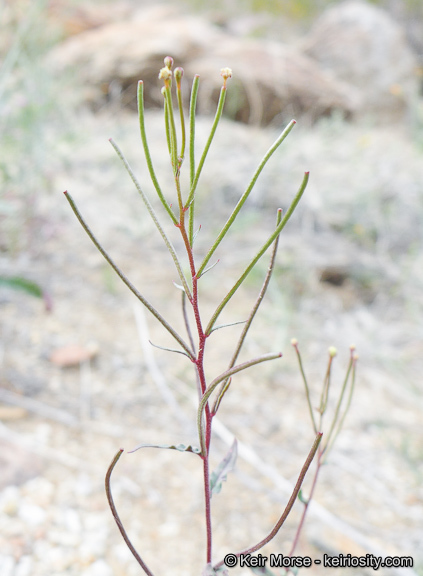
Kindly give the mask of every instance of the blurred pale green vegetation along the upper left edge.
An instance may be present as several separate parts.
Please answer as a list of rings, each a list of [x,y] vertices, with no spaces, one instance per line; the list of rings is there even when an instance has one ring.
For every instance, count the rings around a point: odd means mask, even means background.
[[[0,251],[12,254],[31,241],[37,194],[50,190],[54,170],[52,135],[66,132],[58,86],[43,64],[61,32],[46,14],[46,0],[2,7]]]

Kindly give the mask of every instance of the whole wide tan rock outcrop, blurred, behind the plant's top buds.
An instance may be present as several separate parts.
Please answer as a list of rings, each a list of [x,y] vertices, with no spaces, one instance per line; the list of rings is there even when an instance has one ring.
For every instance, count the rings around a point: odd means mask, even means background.
[[[234,70],[231,90],[236,91],[226,113],[242,122],[269,124],[277,115],[290,119],[303,113],[315,119],[335,109],[348,116],[359,105],[353,88],[322,72],[298,50],[234,38],[203,18],[163,5],[142,10],[131,21],[67,39],[51,53],[49,66],[58,72],[73,70],[94,108],[115,101],[135,109],[139,79],[146,106],[161,107],[157,76],[166,55],[185,69],[189,83],[200,74],[201,112],[214,110],[224,66]]]

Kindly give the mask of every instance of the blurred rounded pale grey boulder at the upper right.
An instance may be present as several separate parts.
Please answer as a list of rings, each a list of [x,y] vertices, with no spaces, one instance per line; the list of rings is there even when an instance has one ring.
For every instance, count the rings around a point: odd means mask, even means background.
[[[329,8],[304,52],[362,95],[361,114],[401,120],[418,92],[417,58],[387,12],[360,0]]]

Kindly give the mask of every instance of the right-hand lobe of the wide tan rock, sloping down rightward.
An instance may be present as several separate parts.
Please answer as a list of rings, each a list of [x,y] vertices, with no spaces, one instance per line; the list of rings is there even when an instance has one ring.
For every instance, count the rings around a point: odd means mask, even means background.
[[[229,87],[236,97],[225,106],[234,120],[268,125],[276,118],[289,121],[306,114],[314,121],[334,110],[350,116],[360,105],[355,89],[331,78],[294,47],[228,38],[186,66],[189,77],[197,72],[202,78],[200,111],[214,108],[222,85],[219,70],[224,66],[233,69]]]

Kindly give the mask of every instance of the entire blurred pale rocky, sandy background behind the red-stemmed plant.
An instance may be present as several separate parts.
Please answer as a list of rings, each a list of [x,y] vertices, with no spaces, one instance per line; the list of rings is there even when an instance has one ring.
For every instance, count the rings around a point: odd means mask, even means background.
[[[197,443],[192,366],[149,345],[171,343],[63,196],[69,190],[133,283],[184,333],[172,261],[108,142],[156,206],[136,114],[144,80],[154,165],[171,198],[157,79],[171,55],[185,70],[187,103],[200,74],[197,157],[219,71],[233,70],[198,190],[198,261],[297,120],[202,279],[205,318],[310,171],[242,359],[284,357],[238,375],[218,415],[213,463],[232,435],[243,449],[213,498],[215,560],[271,529],[313,442],[296,337],[316,404],[327,349],[338,349],[331,409],[349,346],[359,354],[353,404],[297,554],[412,556],[412,570],[379,572],[423,575],[422,2],[0,0],[0,26],[0,574],[139,574],[107,507],[107,467],[120,447]],[[267,266],[264,257],[222,321],[246,318]],[[239,332],[210,339],[209,378],[227,366]],[[154,573],[201,573],[194,455],[124,454],[113,489]],[[297,503],[263,554],[288,553],[300,513]]]

